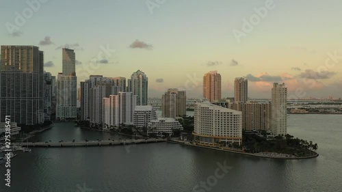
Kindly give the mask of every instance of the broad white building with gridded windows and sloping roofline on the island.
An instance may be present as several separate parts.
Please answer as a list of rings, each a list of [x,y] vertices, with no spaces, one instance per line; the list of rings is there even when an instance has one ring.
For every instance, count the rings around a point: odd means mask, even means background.
[[[197,102],[193,135],[194,139],[202,145],[218,146],[220,143],[241,145],[241,111],[213,105],[207,101]]]

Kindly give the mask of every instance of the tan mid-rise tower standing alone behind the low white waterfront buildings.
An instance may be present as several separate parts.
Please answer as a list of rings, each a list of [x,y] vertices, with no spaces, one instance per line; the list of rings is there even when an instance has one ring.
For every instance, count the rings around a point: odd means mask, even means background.
[[[187,94],[185,91],[169,89],[163,94],[162,100],[163,118],[176,118],[186,114]]]

